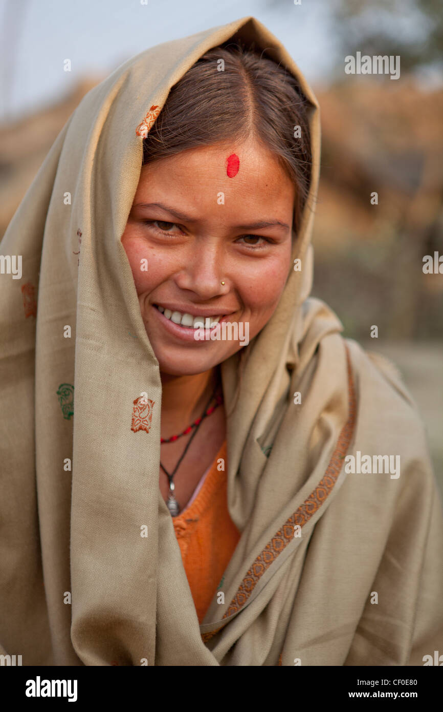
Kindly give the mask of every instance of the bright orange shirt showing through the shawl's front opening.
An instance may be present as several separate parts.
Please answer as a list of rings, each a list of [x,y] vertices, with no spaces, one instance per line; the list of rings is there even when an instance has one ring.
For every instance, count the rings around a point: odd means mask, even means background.
[[[224,470],[217,468],[220,458],[225,461]],[[225,441],[196,497],[172,519],[199,623],[205,617],[240,539],[240,532],[228,511],[226,464]]]

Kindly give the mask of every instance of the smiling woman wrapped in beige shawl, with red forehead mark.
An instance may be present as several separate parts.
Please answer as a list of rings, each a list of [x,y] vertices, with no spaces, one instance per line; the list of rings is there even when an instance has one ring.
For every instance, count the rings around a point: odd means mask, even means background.
[[[441,646],[420,419],[308,298],[318,176],[316,100],[253,18],[128,61],[58,136],[1,246],[23,277],[0,283],[0,641],[23,665]]]

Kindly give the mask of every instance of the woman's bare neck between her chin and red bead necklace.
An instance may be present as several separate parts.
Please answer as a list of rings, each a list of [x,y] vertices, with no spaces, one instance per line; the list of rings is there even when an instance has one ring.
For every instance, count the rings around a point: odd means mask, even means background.
[[[215,388],[217,368],[193,376],[161,377],[161,437],[178,435],[203,415],[210,394]]]

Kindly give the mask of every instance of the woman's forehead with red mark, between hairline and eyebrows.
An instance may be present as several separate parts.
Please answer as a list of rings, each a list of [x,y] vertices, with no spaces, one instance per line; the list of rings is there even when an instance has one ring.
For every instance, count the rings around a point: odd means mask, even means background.
[[[140,174],[137,198],[167,191],[169,196],[213,199],[223,192],[231,201],[279,206],[294,204],[295,187],[277,157],[257,140],[233,141],[186,150],[147,164]]]

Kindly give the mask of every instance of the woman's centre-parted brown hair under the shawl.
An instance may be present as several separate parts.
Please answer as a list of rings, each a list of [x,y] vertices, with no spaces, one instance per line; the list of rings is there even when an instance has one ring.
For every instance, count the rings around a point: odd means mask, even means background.
[[[224,66],[220,63],[223,60]],[[218,68],[223,66],[223,70]],[[311,183],[309,102],[297,79],[253,46],[228,41],[204,54],[174,87],[143,141],[143,164],[182,151],[251,135],[267,147],[295,184],[297,235]],[[295,127],[300,137],[294,137]],[[250,344],[239,355],[239,382]]]

